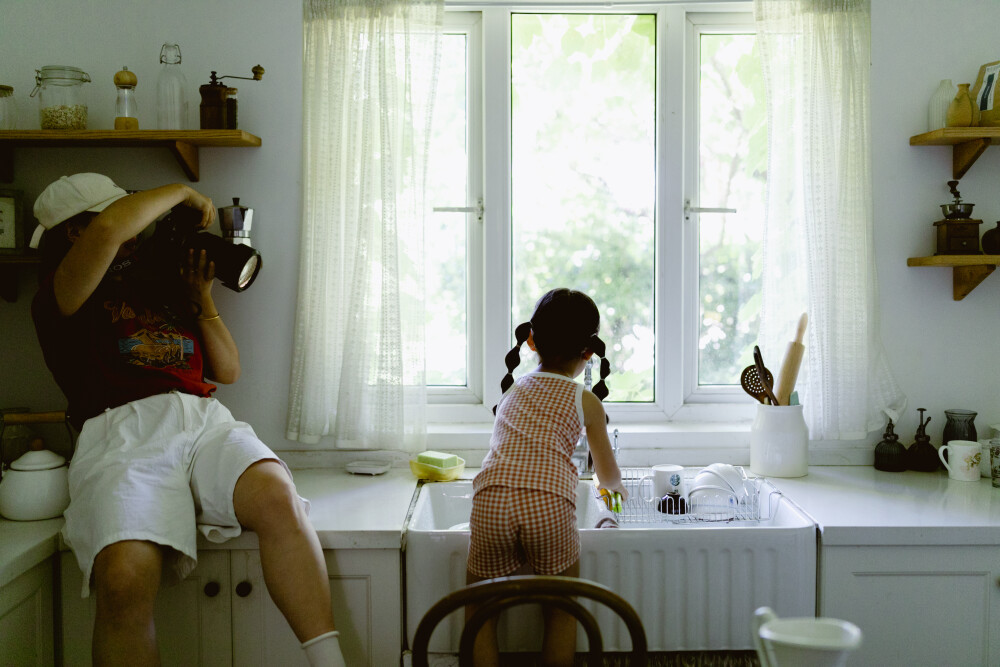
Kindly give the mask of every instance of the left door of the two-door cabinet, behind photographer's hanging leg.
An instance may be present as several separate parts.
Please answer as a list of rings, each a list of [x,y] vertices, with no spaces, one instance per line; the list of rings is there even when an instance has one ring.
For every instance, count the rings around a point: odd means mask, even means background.
[[[76,557],[62,557],[62,636],[66,665],[90,665],[96,602],[80,597],[83,574]],[[164,667],[229,665],[233,649],[229,599],[229,552],[198,553],[198,567],[184,581],[164,583],[156,600],[155,622]]]

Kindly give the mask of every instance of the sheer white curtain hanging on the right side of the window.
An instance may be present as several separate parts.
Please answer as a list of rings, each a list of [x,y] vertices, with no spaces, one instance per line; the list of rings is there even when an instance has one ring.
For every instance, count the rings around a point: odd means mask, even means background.
[[[761,347],[780,359],[808,312],[810,436],[865,438],[906,405],[878,316],[869,3],[755,0],[754,15],[769,114]]]

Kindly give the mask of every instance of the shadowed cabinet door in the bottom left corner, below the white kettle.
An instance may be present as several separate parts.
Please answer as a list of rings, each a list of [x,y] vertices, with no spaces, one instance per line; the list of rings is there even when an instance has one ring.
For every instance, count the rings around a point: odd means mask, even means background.
[[[0,664],[48,667],[54,646],[52,561],[46,560],[0,589]]]

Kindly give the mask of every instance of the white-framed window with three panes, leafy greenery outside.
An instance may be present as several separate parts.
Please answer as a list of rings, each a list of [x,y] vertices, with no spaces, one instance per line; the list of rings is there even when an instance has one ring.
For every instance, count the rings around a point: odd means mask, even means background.
[[[555,286],[601,309],[616,418],[744,400],[767,162],[749,15],[446,16],[426,243],[444,418],[488,414],[514,326]]]

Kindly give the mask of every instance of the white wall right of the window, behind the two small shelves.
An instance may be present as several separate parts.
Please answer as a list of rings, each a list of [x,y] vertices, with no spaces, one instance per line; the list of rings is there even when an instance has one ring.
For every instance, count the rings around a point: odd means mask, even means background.
[[[927,131],[927,103],[941,79],[975,83],[979,66],[1000,60],[994,0],[872,0],[872,171],[875,251],[882,337],[906,393],[907,419],[897,433],[913,442],[917,408],[940,444],[947,408],[979,413],[980,437],[1000,422],[1000,275],[962,301],[952,300],[951,269],[908,267],[934,254],[933,222],[951,201],[951,149],[910,146]],[[962,199],[976,205],[983,231],[1000,220],[1000,148],[986,150],[961,179]]]

